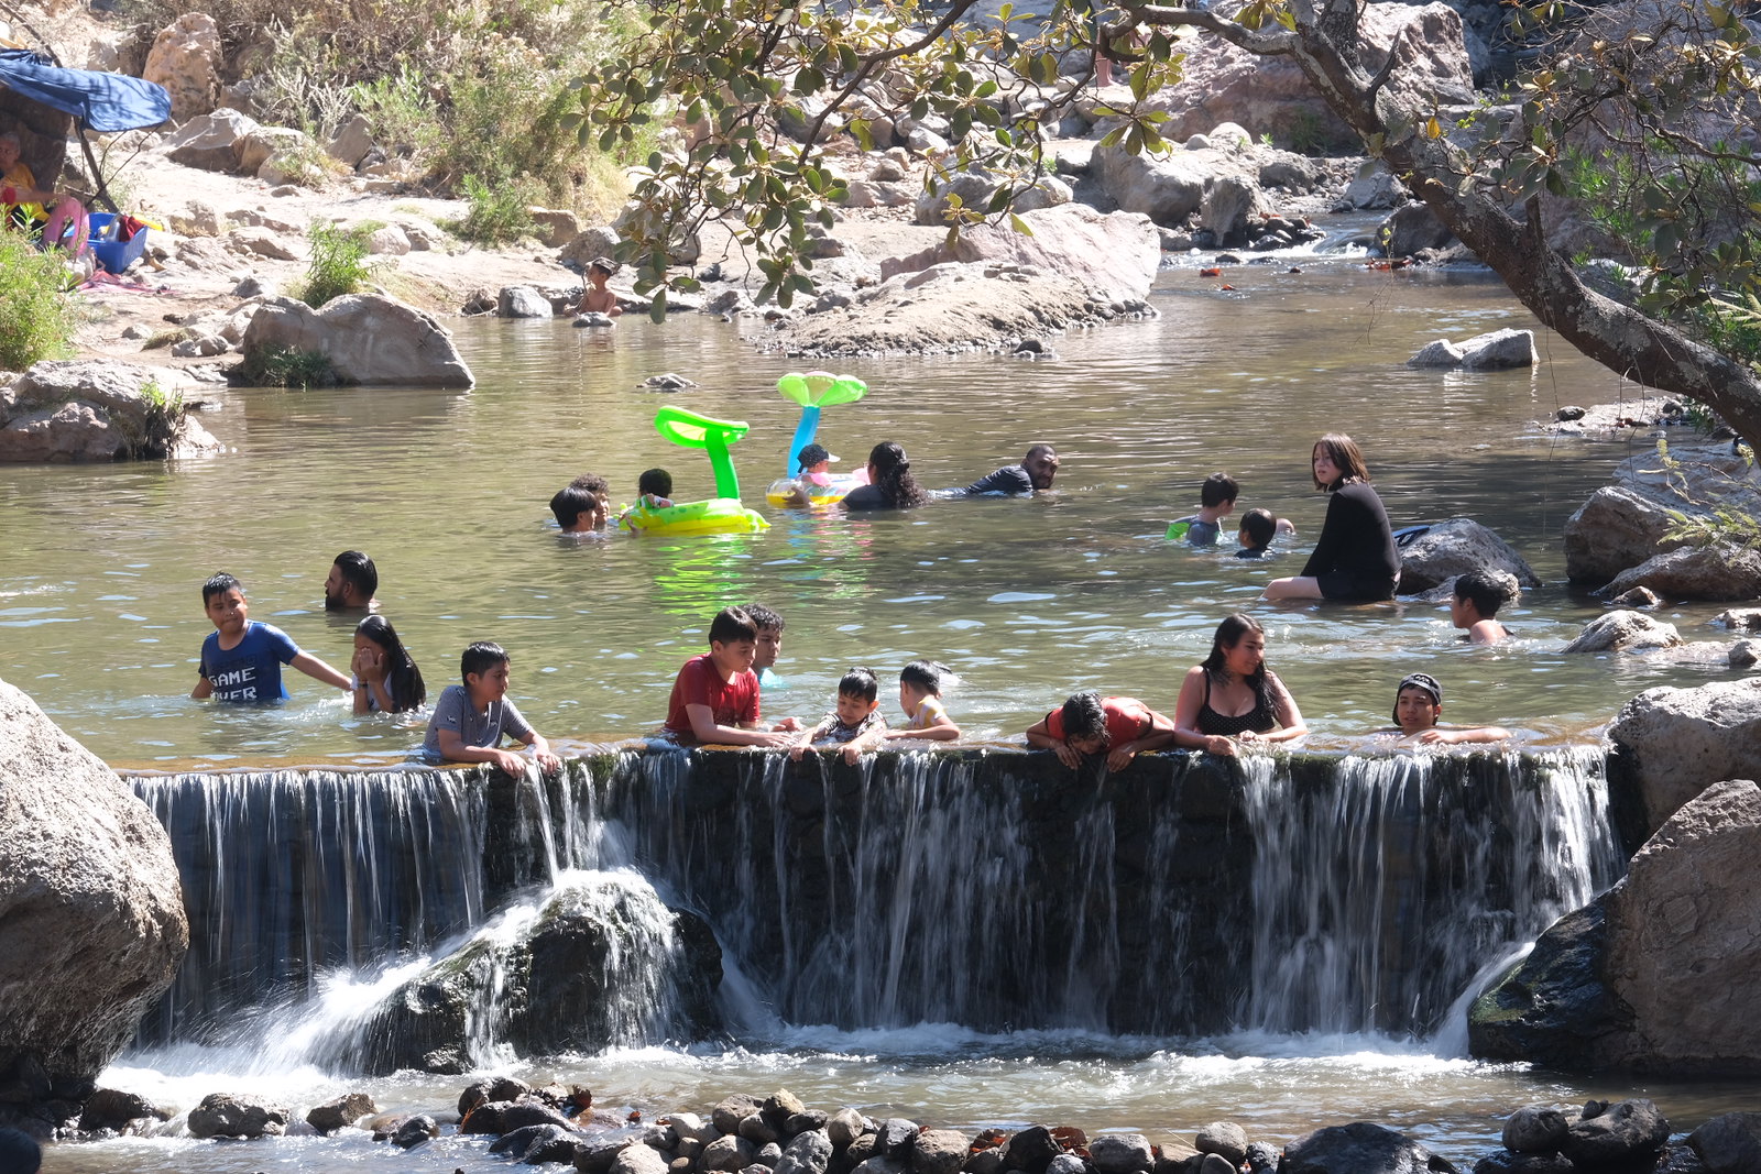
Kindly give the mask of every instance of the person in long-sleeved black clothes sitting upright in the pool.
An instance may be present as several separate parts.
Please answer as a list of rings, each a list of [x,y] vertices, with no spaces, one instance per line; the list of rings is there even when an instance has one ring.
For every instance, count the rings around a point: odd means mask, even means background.
[[[1303,574],[1273,579],[1266,584],[1266,598],[1393,598],[1400,584],[1400,553],[1358,444],[1328,433],[1315,442],[1310,465],[1315,489],[1328,495],[1326,521]]]

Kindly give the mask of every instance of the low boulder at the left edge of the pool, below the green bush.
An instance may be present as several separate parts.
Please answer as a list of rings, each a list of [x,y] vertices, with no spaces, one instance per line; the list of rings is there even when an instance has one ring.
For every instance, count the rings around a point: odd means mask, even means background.
[[[48,359],[0,391],[0,461],[190,458],[220,451],[183,405],[183,377],[107,359]]]

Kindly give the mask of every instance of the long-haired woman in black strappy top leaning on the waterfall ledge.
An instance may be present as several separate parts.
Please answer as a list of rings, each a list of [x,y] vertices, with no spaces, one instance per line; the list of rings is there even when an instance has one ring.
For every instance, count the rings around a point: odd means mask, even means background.
[[[1308,732],[1291,690],[1266,667],[1266,634],[1236,613],[1217,625],[1212,653],[1175,702],[1175,745],[1236,753],[1236,741],[1278,743]]]

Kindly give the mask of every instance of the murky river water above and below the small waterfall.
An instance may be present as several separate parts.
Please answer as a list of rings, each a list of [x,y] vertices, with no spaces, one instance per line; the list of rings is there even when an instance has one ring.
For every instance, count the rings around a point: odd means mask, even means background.
[[[766,711],[829,708],[849,664],[889,681],[933,657],[953,665],[947,697],[979,739],[1014,739],[1076,688],[1136,693],[1173,708],[1180,674],[1203,658],[1217,620],[1252,611],[1268,662],[1286,678],[1314,743],[1337,746],[1384,725],[1395,681],[1437,674],[1448,718],[1497,722],[1537,743],[1585,743],[1652,685],[1722,679],[1719,667],[1645,658],[1567,658],[1557,649],[1597,600],[1564,584],[1560,528],[1613,465],[1647,440],[1544,435],[1566,403],[1636,389],[1539,331],[1532,371],[1412,371],[1423,343],[1506,326],[1536,327],[1485,275],[1370,271],[1301,257],[1301,273],[1243,266],[1233,289],[1196,266],[1164,273],[1162,317],[1071,334],[1060,361],[990,356],[851,361],[870,394],[831,408],[821,440],[859,466],[898,440],[932,488],[965,484],[1034,442],[1064,456],[1057,491],[1034,500],[937,500],[902,516],[845,519],[761,502],[782,468],[796,408],[775,391],[799,370],[759,356],[706,317],[664,327],[625,317],[615,331],[556,322],[454,322],[477,373],[472,393],[417,389],[215,391],[204,424],[227,454],[176,465],[7,470],[0,505],[0,676],[118,766],[213,769],[269,762],[380,766],[402,760],[421,722],[356,720],[340,695],[294,674],[294,699],[262,711],[187,699],[211,630],[199,584],[239,576],[254,618],[345,667],[352,618],[322,611],[321,584],[345,547],[373,554],[379,597],[421,662],[430,695],[454,681],[458,651],[495,639],[512,653],[512,697],[567,748],[655,729],[678,664],[704,648],[711,614],[759,600],[789,621],[782,692]],[[699,387],[639,387],[678,371]],[[674,496],[706,496],[706,461],[652,428],[660,403],[745,419],[734,449],[748,503],[773,523],[750,537],[564,539],[546,502],[574,473],[634,495],[664,465]],[[1467,649],[1448,611],[1423,604],[1256,604],[1264,579],[1300,570],[1324,500],[1308,451],[1324,431],[1363,445],[1396,526],[1467,516],[1495,528],[1546,586],[1504,616],[1516,641]],[[1169,544],[1169,519],[1197,505],[1213,470],[1234,473],[1240,509],[1296,523],[1280,560]],[[1664,614],[1692,639],[1715,609]],[[1710,635],[1710,634],[1705,634]],[[891,690],[882,697],[891,706]],[[372,975],[338,975],[336,998],[366,998]],[[738,993],[740,975],[731,977]],[[511,1065],[599,1091],[602,1105],[706,1109],[727,1091],[787,1086],[807,1104],[856,1104],[958,1126],[1069,1121],[1141,1128],[1153,1139],[1229,1118],[1250,1137],[1377,1119],[1469,1162],[1495,1148],[1502,1118],[1534,1100],[1629,1095],[1631,1082],[1557,1079],[1456,1058],[1433,1040],[1240,1033],[1199,1040],[1083,1031],[979,1033],[960,1024],[833,1030],[757,1009],[727,1047],[636,1047]],[[449,1105],[465,1081],[350,1081],[264,1060],[266,1019],[236,1046],[173,1046],[125,1056],[106,1082],[188,1109],[218,1090],[273,1091],[308,1105],[363,1084],[382,1109]],[[255,1033],[252,1037],[252,1033]],[[1752,1107],[1752,1086],[1652,1091],[1692,1123]],[[442,1139],[410,1155],[365,1137],[229,1146],[187,1137],[120,1139],[51,1151],[48,1170],[498,1169],[481,1141]]]

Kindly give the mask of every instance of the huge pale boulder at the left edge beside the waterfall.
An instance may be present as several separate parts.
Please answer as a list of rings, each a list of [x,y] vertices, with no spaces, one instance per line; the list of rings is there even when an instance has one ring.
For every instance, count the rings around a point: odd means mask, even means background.
[[[166,829],[0,681],[0,1126],[76,1116],[188,940]]]

